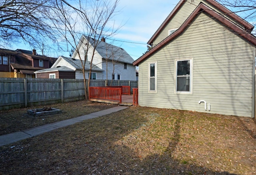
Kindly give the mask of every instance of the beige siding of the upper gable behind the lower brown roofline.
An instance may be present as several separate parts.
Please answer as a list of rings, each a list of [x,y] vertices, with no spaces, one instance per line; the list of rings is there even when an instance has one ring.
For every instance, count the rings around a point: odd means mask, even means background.
[[[180,26],[186,21],[186,19],[192,14],[192,12],[196,9],[196,7],[200,4],[200,2],[203,2],[206,4],[206,6],[212,8],[219,14],[223,14],[220,10],[209,4],[205,0],[196,0],[195,3],[190,4],[190,2],[187,0],[181,8],[178,10],[178,12],[174,15],[174,17],[170,20],[168,25],[160,32],[160,34],[156,37],[156,39],[153,41],[153,45],[157,45],[162,40],[164,40],[166,37],[168,37],[168,30],[169,29],[176,29],[180,28]],[[231,20],[232,22],[236,23],[232,18],[228,17],[227,15],[223,14],[226,18]],[[236,23],[237,24],[237,23]],[[243,28],[243,26],[240,25],[240,27]]]

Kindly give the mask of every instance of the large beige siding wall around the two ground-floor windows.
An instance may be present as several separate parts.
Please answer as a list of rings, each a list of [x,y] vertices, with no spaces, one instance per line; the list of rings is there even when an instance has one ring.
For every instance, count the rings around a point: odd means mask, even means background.
[[[174,59],[187,58],[193,59],[193,91],[176,94]],[[254,46],[200,13],[180,36],[140,63],[139,104],[252,117],[254,59]],[[157,61],[156,93],[148,92],[151,61]],[[210,103],[211,111],[199,100]]]

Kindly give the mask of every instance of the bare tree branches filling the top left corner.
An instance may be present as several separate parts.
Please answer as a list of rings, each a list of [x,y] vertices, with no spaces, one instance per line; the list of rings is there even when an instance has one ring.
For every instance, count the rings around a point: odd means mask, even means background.
[[[2,0],[0,1],[0,45],[24,41],[33,47],[45,39],[56,41],[51,21],[58,20],[52,13],[55,0]],[[47,47],[46,44],[43,46]],[[42,47],[42,48],[43,48]]]

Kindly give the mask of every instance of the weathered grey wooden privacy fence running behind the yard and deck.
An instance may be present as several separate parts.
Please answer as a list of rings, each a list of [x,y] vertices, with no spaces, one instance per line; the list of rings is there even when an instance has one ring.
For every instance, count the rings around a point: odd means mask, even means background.
[[[110,80],[108,80],[110,81]],[[138,87],[138,81],[113,81]],[[106,80],[90,80],[90,86]],[[0,110],[84,100],[83,79],[0,78]]]

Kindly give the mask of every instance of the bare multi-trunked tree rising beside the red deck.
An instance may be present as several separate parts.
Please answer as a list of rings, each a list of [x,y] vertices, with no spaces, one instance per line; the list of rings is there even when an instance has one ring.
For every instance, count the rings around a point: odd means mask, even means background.
[[[92,63],[100,38],[111,36],[119,29],[114,29],[114,23],[111,24],[112,18],[116,14],[118,1],[79,0],[77,4],[69,4],[66,0],[61,0],[60,3],[57,2],[59,22],[55,24],[55,28],[62,34],[68,47],[74,49],[74,54],[80,60],[86,99],[88,99]],[[81,35],[86,37],[81,37]],[[88,61],[86,61],[87,59]],[[90,70],[86,86],[85,68],[88,63],[90,64]]]

